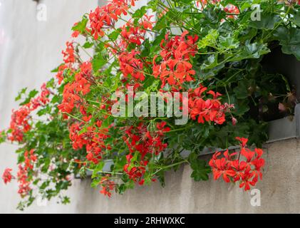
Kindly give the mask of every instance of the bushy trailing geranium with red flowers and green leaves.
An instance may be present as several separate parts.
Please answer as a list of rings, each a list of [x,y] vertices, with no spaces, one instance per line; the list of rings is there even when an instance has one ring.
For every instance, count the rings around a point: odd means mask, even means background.
[[[68,203],[63,190],[87,171],[92,187],[109,197],[137,183],[164,186],[165,171],[183,164],[195,181],[213,172],[214,179],[222,176],[244,190],[262,178],[263,152],[246,144],[262,147],[267,120],[291,115],[296,96],[285,76],[264,72],[261,62],[277,46],[300,59],[297,2],[152,0],[134,6],[135,0],[112,0],[85,14],[72,28],[56,76],[41,92],[25,88],[16,98],[20,108],[0,140],[20,145],[16,177],[11,169],[3,175],[5,183],[19,182],[19,209],[37,195]],[[129,104],[140,91],[180,92],[177,109],[188,111],[187,124],[167,115],[132,117],[130,108],[113,115],[113,93],[124,93]],[[133,103],[138,110],[139,103]],[[237,142],[241,150],[228,150]],[[207,164],[200,157],[206,147],[225,150]]]

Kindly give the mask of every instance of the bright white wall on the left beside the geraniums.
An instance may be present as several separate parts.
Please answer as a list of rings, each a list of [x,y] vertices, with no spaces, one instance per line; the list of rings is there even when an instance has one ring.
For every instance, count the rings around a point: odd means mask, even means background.
[[[71,27],[95,9],[98,0],[40,0],[47,6],[47,21],[36,20],[36,1],[0,0],[0,129],[9,126],[11,109],[21,88],[39,88],[62,61],[61,50],[71,36]],[[0,145],[0,172],[16,170],[12,145]],[[17,185],[0,182],[0,212],[16,212]],[[33,208],[29,212],[66,212],[66,207]],[[68,212],[76,212],[75,206]]]

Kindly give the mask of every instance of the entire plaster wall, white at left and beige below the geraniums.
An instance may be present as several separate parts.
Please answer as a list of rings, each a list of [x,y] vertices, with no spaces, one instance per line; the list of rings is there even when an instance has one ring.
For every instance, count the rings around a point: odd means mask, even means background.
[[[0,129],[9,125],[14,97],[27,86],[38,88],[51,77],[48,72],[61,61],[61,50],[70,28],[93,9],[96,0],[44,0],[47,21],[36,20],[36,2],[0,0]],[[90,188],[89,180],[74,180],[67,194],[71,204],[45,206],[35,202],[26,213],[300,213],[299,140],[273,142],[265,147],[264,180],[257,185],[261,206],[252,207],[250,192],[221,181],[194,182],[189,167],[168,172],[165,188],[155,183],[136,187],[111,199]],[[16,170],[14,145],[0,145],[0,172]],[[209,156],[206,157],[209,159]],[[0,181],[0,212],[17,213],[16,183]]]

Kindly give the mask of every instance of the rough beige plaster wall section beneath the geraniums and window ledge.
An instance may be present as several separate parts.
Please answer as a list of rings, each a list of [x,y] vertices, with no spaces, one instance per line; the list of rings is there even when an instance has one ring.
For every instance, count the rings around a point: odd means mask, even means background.
[[[264,148],[266,169],[260,207],[252,207],[250,192],[222,180],[194,182],[190,167],[168,172],[165,188],[158,183],[136,187],[123,196],[105,199],[90,190],[89,181],[76,181],[76,212],[86,213],[300,213],[299,140],[273,142]],[[209,158],[209,157],[207,157]],[[78,197],[80,196],[80,197]]]

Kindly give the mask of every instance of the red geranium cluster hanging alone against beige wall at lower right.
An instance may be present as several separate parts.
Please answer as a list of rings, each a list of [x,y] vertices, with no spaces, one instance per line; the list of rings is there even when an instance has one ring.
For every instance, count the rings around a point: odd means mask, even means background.
[[[246,148],[248,140],[246,138],[238,138],[241,142],[241,150],[229,154],[226,150],[224,157],[218,158],[221,152],[216,152],[212,160],[210,160],[210,166],[212,167],[212,173],[214,180],[217,180],[220,176],[223,177],[225,182],[239,182],[239,187],[244,187],[244,190],[250,190],[250,185],[257,184],[259,177],[262,179],[262,167],[264,167],[264,159],[262,158],[263,150],[255,148],[254,151]],[[237,159],[234,159],[238,155]],[[240,160],[241,155],[243,157]]]

